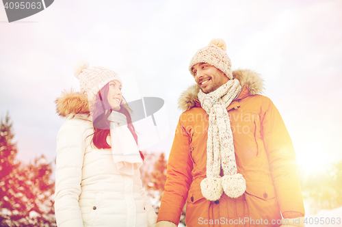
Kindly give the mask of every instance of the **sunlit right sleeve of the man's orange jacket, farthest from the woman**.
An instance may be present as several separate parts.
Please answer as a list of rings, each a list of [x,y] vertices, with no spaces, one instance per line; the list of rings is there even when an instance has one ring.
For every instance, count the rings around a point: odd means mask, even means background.
[[[281,213],[305,214],[295,151],[284,122],[272,101],[263,105],[262,133],[269,169],[274,181]]]

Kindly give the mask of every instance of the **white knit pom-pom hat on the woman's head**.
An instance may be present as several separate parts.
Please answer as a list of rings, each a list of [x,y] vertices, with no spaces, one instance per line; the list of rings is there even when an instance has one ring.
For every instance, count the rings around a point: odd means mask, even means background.
[[[103,88],[109,81],[122,81],[118,74],[107,68],[93,66],[89,67],[88,62],[81,61],[75,65],[74,75],[79,79],[81,93],[87,94],[88,98],[94,98],[97,92]]]

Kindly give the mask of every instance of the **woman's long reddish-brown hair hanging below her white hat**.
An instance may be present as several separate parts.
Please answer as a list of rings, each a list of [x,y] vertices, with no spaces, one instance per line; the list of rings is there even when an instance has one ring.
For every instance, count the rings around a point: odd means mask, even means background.
[[[109,144],[107,143],[107,136],[110,133],[109,129],[109,120],[107,119],[109,117],[109,114],[111,113],[111,106],[108,103],[107,95],[109,91],[109,83],[107,83],[103,88],[98,91],[96,94],[94,105],[92,106],[92,114],[93,114],[93,123],[94,123],[94,136],[92,137],[92,143],[96,148],[98,149],[105,149],[105,148],[111,148]],[[131,131],[135,143],[137,143],[137,133],[135,133],[135,128],[132,124],[132,118],[129,111],[131,111],[131,108],[126,104],[126,100],[122,96],[122,100],[124,102],[120,103],[120,112],[121,114],[124,114],[127,118],[127,128],[129,131]],[[122,105],[122,103],[125,103]],[[142,160],[144,160],[144,155],[140,151],[140,156],[142,157]]]

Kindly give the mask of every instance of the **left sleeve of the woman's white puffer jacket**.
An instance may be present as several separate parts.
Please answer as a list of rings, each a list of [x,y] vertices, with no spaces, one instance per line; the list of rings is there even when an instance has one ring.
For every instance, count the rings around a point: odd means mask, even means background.
[[[57,135],[55,216],[59,227],[83,227],[79,195],[85,137],[79,120],[67,120]]]

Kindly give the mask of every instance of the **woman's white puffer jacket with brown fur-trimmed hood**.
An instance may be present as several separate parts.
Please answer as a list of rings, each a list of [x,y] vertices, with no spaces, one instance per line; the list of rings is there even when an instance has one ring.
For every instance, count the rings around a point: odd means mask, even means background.
[[[121,174],[111,149],[92,145],[94,129],[83,98],[70,92],[57,99],[57,112],[66,116],[57,135],[57,226],[153,226],[157,215],[142,189],[140,171]]]

